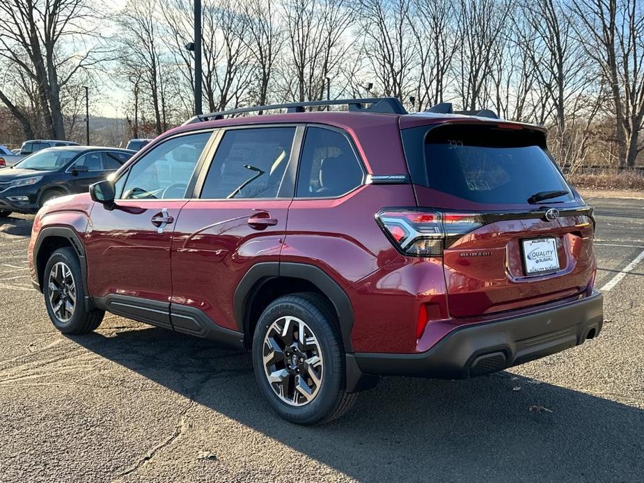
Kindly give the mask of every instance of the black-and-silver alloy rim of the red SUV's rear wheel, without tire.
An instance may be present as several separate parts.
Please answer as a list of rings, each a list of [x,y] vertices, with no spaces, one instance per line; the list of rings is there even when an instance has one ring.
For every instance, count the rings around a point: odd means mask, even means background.
[[[264,337],[264,371],[274,393],[286,404],[304,406],[322,386],[322,351],[311,328],[297,317],[280,317]]]

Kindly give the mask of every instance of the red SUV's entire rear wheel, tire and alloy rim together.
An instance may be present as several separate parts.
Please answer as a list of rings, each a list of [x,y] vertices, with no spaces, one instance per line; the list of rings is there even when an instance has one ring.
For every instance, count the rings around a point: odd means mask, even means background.
[[[320,294],[282,296],[264,310],[253,335],[253,366],[262,395],[282,418],[314,425],[352,406],[336,315]]]

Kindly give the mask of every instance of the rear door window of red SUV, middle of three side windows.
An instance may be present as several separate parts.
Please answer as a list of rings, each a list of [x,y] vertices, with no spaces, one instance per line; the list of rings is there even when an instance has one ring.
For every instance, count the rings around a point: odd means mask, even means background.
[[[276,198],[294,134],[294,127],[226,131],[205,178],[201,198]]]

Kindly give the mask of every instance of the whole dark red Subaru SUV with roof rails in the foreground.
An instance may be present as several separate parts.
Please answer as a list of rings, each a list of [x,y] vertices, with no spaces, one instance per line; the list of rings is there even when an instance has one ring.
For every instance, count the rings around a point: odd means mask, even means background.
[[[348,110],[305,112],[329,104]],[[313,424],[381,375],[464,379],[597,336],[594,230],[543,127],[304,102],[172,129],[42,207],[29,262],[59,331],[109,311],[249,349],[269,405]]]

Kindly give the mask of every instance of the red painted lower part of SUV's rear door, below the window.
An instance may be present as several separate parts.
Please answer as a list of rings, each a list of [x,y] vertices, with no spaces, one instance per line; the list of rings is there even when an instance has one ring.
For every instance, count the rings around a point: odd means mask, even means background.
[[[246,271],[277,262],[291,200],[191,200],[172,243],[173,303],[198,308],[239,330],[233,295]],[[269,223],[256,223],[269,220]],[[249,221],[251,223],[249,223]]]

